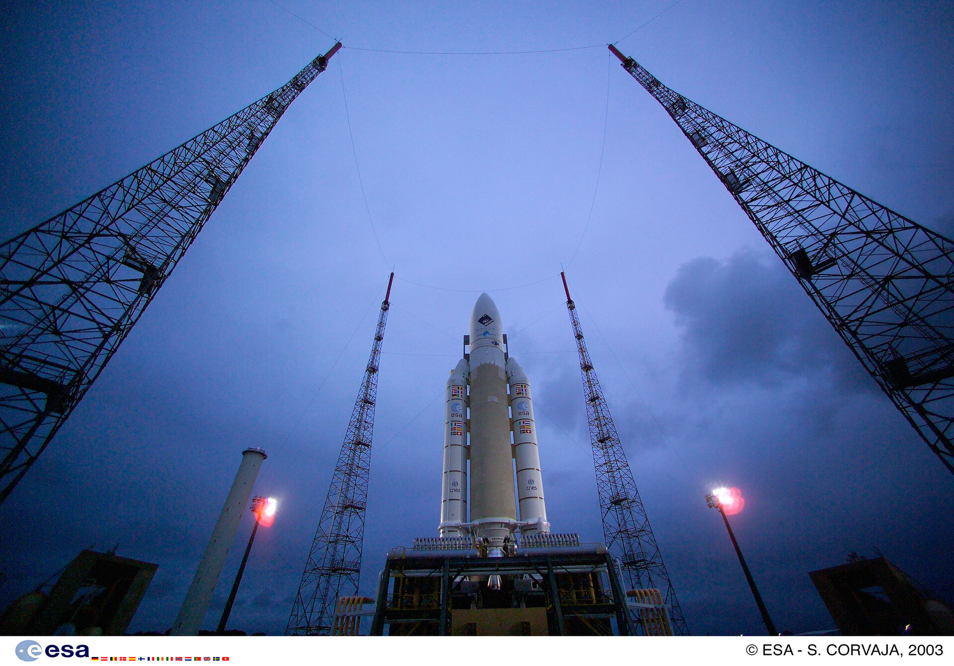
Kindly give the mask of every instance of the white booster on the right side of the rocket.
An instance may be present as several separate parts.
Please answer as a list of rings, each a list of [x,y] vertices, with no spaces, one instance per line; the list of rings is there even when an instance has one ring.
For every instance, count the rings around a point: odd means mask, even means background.
[[[510,383],[510,416],[513,424],[513,457],[517,462],[517,498],[523,534],[550,531],[547,507],[543,499],[543,475],[540,451],[537,448],[536,422],[533,419],[533,396],[527,373],[511,356],[507,361]]]

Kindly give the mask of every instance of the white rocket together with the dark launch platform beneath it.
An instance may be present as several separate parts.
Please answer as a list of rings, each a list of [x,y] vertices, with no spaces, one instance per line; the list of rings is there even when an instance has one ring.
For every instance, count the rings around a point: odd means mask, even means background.
[[[603,544],[550,532],[543,489],[529,379],[481,294],[446,384],[440,536],[388,554],[371,635],[671,635]]]

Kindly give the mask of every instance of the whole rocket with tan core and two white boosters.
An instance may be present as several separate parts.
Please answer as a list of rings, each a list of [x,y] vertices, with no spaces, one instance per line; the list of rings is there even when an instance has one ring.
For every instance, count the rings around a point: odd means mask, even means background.
[[[500,556],[515,531],[550,531],[533,397],[487,294],[474,305],[465,342],[470,353],[446,385],[440,533],[483,538]]]

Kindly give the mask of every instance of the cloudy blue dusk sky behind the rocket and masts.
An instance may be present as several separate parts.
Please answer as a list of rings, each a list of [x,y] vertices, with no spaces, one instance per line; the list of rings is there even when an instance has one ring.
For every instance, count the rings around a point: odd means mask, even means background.
[[[0,505],[0,606],[118,544],[158,565],[129,631],[165,631],[263,447],[279,510],[229,626],[282,633],[392,267],[363,593],[437,535],[445,382],[482,291],[532,385],[552,529],[602,541],[561,265],[693,634],[764,632],[718,486],[745,497],[779,631],[834,628],[808,572],[848,552],[954,601],[954,477],[605,46],[643,26],[617,46],[676,92],[950,237],[954,4],[673,1],[0,3],[5,239],[344,46]]]

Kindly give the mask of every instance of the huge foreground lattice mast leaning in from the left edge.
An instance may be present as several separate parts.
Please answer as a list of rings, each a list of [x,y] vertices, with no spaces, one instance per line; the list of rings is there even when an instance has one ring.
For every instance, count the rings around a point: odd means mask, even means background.
[[[0,245],[0,502],[50,444],[320,55],[274,93]]]

